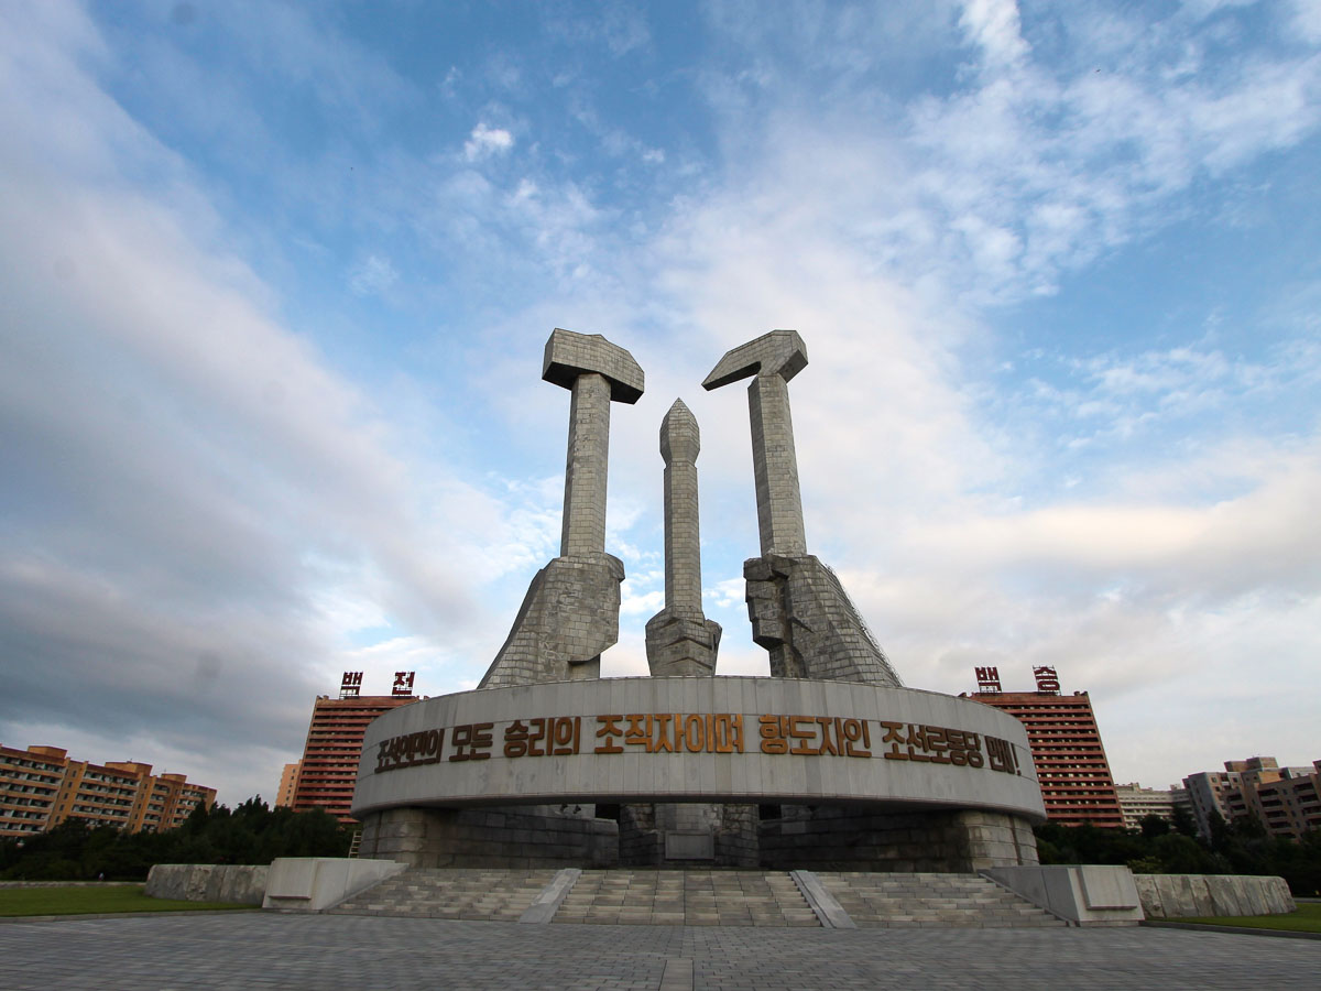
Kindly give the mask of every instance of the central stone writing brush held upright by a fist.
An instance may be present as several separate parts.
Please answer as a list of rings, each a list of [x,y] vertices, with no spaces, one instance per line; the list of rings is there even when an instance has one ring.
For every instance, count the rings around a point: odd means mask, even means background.
[[[701,535],[697,521],[697,420],[675,399],[660,423],[664,460],[664,608],[647,621],[647,666],[654,675],[711,675],[720,624],[701,610]]]

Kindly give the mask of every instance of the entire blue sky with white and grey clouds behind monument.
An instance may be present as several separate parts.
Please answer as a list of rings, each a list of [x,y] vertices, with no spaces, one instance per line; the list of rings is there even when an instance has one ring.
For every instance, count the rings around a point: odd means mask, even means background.
[[[1321,757],[1316,0],[0,0],[0,741],[275,791],[313,696],[472,687],[613,411],[608,675],[729,348],[797,328],[808,548],[905,683],[1089,690],[1114,773]]]

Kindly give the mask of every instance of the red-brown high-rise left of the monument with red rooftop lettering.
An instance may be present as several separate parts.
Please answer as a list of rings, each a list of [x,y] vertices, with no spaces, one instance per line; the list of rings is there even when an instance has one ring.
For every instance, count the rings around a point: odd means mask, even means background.
[[[396,671],[390,695],[361,695],[362,671],[345,671],[338,699],[317,696],[299,761],[295,811],[325,809],[345,825],[358,822],[349,815],[349,806],[358,784],[362,736],[367,724],[382,712],[417,700],[412,683],[412,671]]]

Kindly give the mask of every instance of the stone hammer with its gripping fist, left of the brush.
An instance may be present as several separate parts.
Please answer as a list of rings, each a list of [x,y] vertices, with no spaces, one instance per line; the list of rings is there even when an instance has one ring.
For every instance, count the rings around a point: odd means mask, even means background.
[[[573,396],[560,556],[536,572],[480,688],[600,678],[601,651],[620,638],[624,563],[605,552],[610,403],[638,402],[642,369],[601,334],[556,329],[542,378]]]

